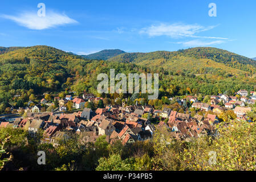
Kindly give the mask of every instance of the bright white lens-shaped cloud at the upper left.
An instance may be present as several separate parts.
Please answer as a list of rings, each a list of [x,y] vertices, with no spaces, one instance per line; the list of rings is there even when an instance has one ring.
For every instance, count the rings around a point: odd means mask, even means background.
[[[1,17],[13,20],[19,25],[32,30],[44,30],[62,26],[64,24],[78,23],[76,20],[69,18],[65,14],[54,13],[53,11],[47,11],[46,16],[44,17],[39,17],[37,13],[30,12],[22,13],[17,16],[2,15]]]

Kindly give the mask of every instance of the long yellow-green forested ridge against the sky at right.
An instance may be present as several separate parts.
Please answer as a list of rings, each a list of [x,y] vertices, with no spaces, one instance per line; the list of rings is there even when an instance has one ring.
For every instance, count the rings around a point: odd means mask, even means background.
[[[124,63],[135,63],[140,65],[158,65],[165,67],[168,63],[192,61],[201,59],[212,60],[217,63],[225,64],[227,67],[241,69],[255,73],[256,61],[247,57],[212,47],[197,47],[181,49],[179,51],[156,51],[149,53],[123,53],[108,59],[109,61],[120,61]],[[172,68],[172,67],[170,67]]]

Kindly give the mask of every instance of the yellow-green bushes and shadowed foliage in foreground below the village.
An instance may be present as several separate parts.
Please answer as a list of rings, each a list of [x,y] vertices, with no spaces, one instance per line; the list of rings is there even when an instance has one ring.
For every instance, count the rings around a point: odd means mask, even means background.
[[[218,135],[175,140],[164,128],[157,129],[153,140],[123,146],[105,141],[105,136],[83,144],[78,136],[52,147],[36,143],[21,129],[0,129],[3,149],[12,155],[5,169],[28,170],[255,170],[255,123],[232,121],[217,126]],[[40,138],[40,137],[39,137]],[[39,139],[37,138],[37,139]],[[38,165],[38,151],[46,152],[46,165]]]

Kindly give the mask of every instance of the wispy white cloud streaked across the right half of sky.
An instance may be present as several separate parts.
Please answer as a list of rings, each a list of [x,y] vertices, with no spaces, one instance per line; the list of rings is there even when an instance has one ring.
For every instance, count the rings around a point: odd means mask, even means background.
[[[161,23],[159,25],[151,25],[150,27],[145,27],[140,31],[140,34],[147,34],[151,37],[153,36],[169,36],[170,38],[184,38],[184,37],[196,37],[196,38],[209,38],[209,39],[226,39],[226,38],[216,38],[207,36],[196,36],[194,34],[198,32],[212,30],[217,26],[201,26],[199,24],[166,24]]]

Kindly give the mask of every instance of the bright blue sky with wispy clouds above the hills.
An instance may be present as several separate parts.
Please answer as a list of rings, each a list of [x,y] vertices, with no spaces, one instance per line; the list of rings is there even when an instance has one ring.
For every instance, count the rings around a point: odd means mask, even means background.
[[[46,16],[38,16],[38,3]],[[209,3],[217,6],[210,17]],[[0,46],[52,46],[89,54],[207,46],[256,57],[256,1],[11,1],[0,6]]]

